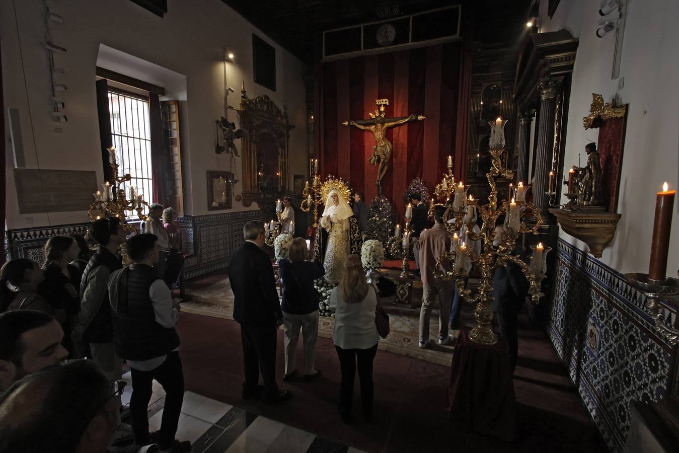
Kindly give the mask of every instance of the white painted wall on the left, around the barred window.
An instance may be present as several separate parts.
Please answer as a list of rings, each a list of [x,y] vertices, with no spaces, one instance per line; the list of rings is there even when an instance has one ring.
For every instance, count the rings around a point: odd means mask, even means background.
[[[285,101],[289,121],[297,126],[291,131],[291,174],[306,174],[304,65],[223,2],[169,0],[164,18],[129,0],[48,0],[47,3],[52,12],[64,18],[63,24],[50,26],[52,39],[68,50],[55,58],[56,65],[66,71],[58,77],[58,82],[69,87],[62,95],[69,121],[60,124],[52,122],[50,116],[47,52],[43,48],[46,31],[43,0],[0,1],[5,108],[20,110],[27,167],[96,170],[98,182],[103,182],[94,79],[98,49],[100,44],[105,44],[186,78],[186,101],[180,103],[180,108],[183,109],[181,120],[185,122],[181,144],[187,214],[208,213],[206,170],[229,168],[229,156],[214,152],[215,120],[224,113],[223,48],[236,55],[235,61],[227,65],[227,83],[236,89],[230,96],[230,104],[238,107],[242,80],[250,97],[268,94],[279,107]],[[276,92],[253,81],[252,33],[276,48]],[[236,119],[234,111],[229,115],[230,120]],[[55,126],[62,127],[63,132],[54,133]],[[86,221],[87,206],[73,213],[18,213],[8,124],[5,130],[7,227]],[[237,165],[242,179],[240,158]],[[241,191],[241,185],[237,184],[234,194]],[[257,209],[257,205],[248,209]],[[242,204],[234,200],[232,211],[243,210]]]

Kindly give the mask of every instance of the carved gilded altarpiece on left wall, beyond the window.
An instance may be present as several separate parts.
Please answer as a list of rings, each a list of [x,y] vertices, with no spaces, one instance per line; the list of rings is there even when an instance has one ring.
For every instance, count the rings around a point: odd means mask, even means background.
[[[290,174],[290,130],[287,109],[278,108],[269,96],[249,98],[241,90],[240,127],[242,138],[243,206],[257,202],[260,208],[272,204],[292,186]]]

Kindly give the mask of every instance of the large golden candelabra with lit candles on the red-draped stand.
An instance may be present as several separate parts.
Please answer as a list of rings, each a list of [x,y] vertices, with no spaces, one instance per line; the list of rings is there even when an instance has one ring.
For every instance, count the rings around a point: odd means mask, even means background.
[[[498,122],[500,122],[499,118]],[[511,178],[513,177],[513,171],[502,166],[501,156],[504,152],[502,148],[504,146],[502,128],[504,123],[498,124],[500,132],[493,128],[494,124],[495,122],[491,122],[492,138],[490,154],[492,156],[492,167],[486,174],[491,188],[488,204],[480,206],[473,198],[470,197],[468,200],[466,198],[466,187],[460,182],[455,187],[454,201],[445,210],[443,219],[445,228],[451,233],[460,233],[462,225],[466,225],[467,240],[483,241],[481,253],[476,255],[473,247],[467,247],[470,244],[465,244],[464,242],[458,244],[457,240],[454,240],[454,251],[452,253],[444,253],[443,256],[437,259],[435,266],[435,275],[444,280],[455,278],[455,285],[460,296],[464,297],[464,300],[467,302],[476,304],[476,309],[474,310],[476,326],[469,333],[469,338],[479,344],[495,344],[497,342],[497,336],[491,327],[493,312],[490,308],[493,299],[493,274],[495,269],[509,262],[517,264],[521,268],[521,272],[526,276],[528,283],[530,283],[528,293],[532,302],[536,304],[539,302],[540,297],[543,296],[543,293],[540,292],[540,283],[545,278],[547,252],[551,250],[549,247],[543,247],[542,244],[538,244],[538,246],[534,247],[530,265],[526,264],[518,256],[512,255],[519,234],[537,234],[538,227],[543,223],[543,219],[540,216],[540,210],[534,204],[523,200],[515,201],[512,199],[511,202],[502,200],[502,204],[498,207],[495,179],[500,176]],[[495,134],[498,134],[498,137],[494,141]],[[469,206],[474,206],[477,209],[483,221],[483,226],[479,233],[474,232],[476,223],[471,221],[473,216],[469,216],[469,222],[464,221],[464,215]],[[526,217],[529,211],[532,216],[531,226],[526,225]],[[504,233],[502,234],[500,244],[496,247],[493,244],[495,225],[498,216],[503,214],[505,215]],[[449,223],[448,219],[454,219],[454,221]],[[441,264],[444,261],[449,262],[445,267],[452,267],[452,270],[443,269]],[[464,288],[464,279],[469,275],[472,265],[476,266],[481,273],[478,291],[474,295],[472,295],[471,290]]]

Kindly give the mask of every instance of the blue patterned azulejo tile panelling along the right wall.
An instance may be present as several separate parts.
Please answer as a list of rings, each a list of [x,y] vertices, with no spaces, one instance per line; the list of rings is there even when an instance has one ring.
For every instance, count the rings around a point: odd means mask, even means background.
[[[553,288],[549,338],[608,447],[622,451],[631,403],[668,393],[672,345],[655,333],[642,293],[562,239]],[[676,313],[663,310],[672,323]]]

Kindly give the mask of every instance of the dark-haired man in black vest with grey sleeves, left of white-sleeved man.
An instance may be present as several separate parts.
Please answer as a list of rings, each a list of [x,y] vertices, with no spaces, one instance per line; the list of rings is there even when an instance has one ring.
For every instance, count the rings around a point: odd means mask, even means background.
[[[73,344],[90,345],[92,360],[113,382],[122,378],[122,359],[113,349],[113,324],[107,282],[122,268],[118,247],[125,242],[125,230],[117,217],[105,217],[90,225],[90,238],[99,247],[90,258],[80,280],[80,312],[73,328]]]

